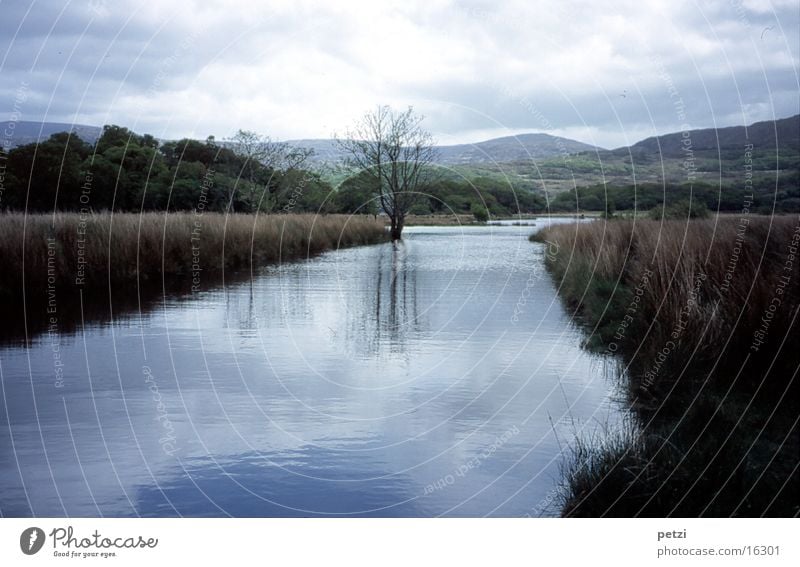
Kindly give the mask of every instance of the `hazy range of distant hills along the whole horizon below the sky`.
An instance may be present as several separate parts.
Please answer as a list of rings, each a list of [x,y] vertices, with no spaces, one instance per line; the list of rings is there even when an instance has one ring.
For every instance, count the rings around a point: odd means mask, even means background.
[[[15,147],[46,140],[57,132],[71,131],[86,142],[93,144],[102,133],[99,126],[67,124],[59,122],[19,121],[0,122],[0,132],[13,132],[10,146]],[[800,149],[800,115],[773,121],[756,122],[749,126],[725,128],[703,128],[689,131],[692,150],[698,159],[714,160],[740,158],[746,143],[752,143],[756,151],[775,152],[791,157]],[[494,138],[475,144],[439,146],[438,163],[455,166],[469,173],[492,173],[519,175],[523,179],[537,179],[537,185],[550,179],[551,188],[564,188],[578,184],[597,182],[598,179],[615,179],[632,174],[631,157],[637,167],[647,166],[662,160],[681,160],[684,134],[674,132],[646,138],[632,146],[605,150],[576,140],[551,136],[550,134],[520,134]],[[4,140],[5,141],[5,140]],[[225,142],[219,142],[225,144]],[[312,163],[337,165],[346,157],[331,139],[289,140],[290,144],[314,150]],[[723,154],[727,154],[723,155]],[[569,156],[565,159],[565,156]],[[534,163],[534,160],[536,163]],[[601,162],[603,168],[601,169]],[[738,163],[738,161],[737,161]],[[791,164],[794,162],[792,161]],[[773,164],[774,165],[774,164]],[[710,173],[718,169],[710,162]],[[738,166],[737,166],[738,167]],[[792,166],[790,165],[790,168]],[[532,169],[533,168],[533,169]],[[552,170],[553,176],[549,175]],[[658,171],[642,170],[640,179],[657,179]],[[668,176],[669,177],[669,176]],[[621,181],[621,179],[616,179]],[[567,182],[566,185],[562,181]]]

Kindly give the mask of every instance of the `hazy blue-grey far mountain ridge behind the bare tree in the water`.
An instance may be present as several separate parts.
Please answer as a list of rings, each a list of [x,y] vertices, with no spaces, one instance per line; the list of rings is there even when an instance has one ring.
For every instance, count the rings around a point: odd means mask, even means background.
[[[313,162],[338,163],[345,159],[333,140],[289,140],[289,143],[314,150]],[[590,144],[550,134],[520,134],[494,138],[475,144],[438,146],[437,163],[443,165],[475,165],[509,163],[531,159],[544,159],[577,152],[596,151]]]

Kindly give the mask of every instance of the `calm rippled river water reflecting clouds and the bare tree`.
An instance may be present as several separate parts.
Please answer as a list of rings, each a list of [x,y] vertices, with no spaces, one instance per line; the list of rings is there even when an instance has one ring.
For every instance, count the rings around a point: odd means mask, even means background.
[[[557,513],[561,448],[618,414],[532,230],[410,228],[0,350],[0,512]]]

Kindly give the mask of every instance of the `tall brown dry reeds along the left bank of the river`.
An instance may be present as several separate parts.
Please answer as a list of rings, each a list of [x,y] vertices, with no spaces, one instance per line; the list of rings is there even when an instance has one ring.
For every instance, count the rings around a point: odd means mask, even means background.
[[[13,300],[23,289],[48,285],[64,292],[162,278],[190,283],[198,274],[207,282],[224,270],[384,239],[381,222],[346,215],[6,213],[0,215],[0,296]]]

